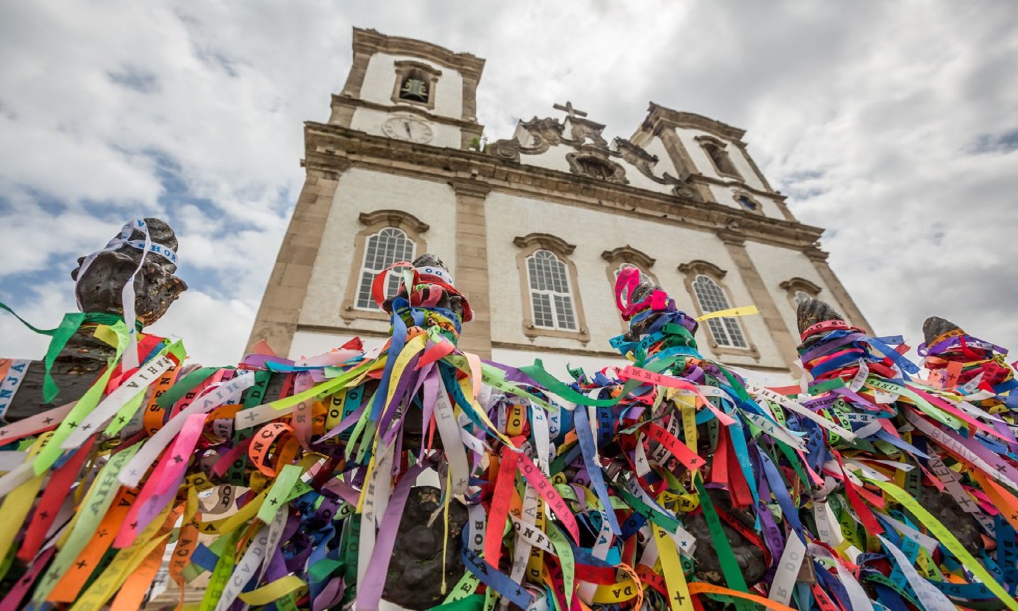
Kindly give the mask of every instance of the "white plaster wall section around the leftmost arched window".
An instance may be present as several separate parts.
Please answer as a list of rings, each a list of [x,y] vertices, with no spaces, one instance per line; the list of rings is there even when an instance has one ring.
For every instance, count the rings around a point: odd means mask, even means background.
[[[430,228],[421,235],[428,251],[438,255],[449,269],[456,269],[456,199],[451,186],[350,168],[340,175],[336,187],[298,325],[350,327],[340,317],[340,310],[347,282],[359,278],[361,261],[353,261],[355,236],[364,228],[359,216],[378,210],[401,210],[428,223]],[[423,253],[417,244],[416,255]],[[386,321],[358,320],[355,325],[380,333],[389,328]]]

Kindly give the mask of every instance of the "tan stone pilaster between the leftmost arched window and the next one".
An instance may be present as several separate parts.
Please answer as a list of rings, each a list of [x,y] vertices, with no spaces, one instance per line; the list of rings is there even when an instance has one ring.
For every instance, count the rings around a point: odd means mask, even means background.
[[[449,184],[456,192],[456,270],[453,280],[473,310],[473,321],[463,325],[459,347],[483,358],[491,358],[492,308],[485,199],[492,187],[465,179],[453,179]]]

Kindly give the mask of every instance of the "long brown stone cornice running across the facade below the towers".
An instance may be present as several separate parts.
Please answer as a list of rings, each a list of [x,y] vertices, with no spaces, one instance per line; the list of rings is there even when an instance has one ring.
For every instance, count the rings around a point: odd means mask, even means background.
[[[306,122],[304,143],[304,166],[310,171],[335,172],[338,165],[352,163],[437,182],[476,177],[498,191],[700,231],[714,232],[735,221],[746,239],[798,251],[811,246],[824,232],[817,227],[717,203],[603,180],[577,181],[567,172],[522,165],[475,151],[394,141],[339,125]]]

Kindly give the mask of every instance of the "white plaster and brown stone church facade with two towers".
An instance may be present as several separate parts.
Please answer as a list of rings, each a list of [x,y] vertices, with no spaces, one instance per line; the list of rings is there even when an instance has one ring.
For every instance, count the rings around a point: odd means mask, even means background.
[[[624,330],[613,285],[635,265],[701,323],[704,355],[786,377],[795,307],[816,296],[869,329],[817,245],[760,173],[743,130],[652,103],[628,138],[572,104],[482,146],[485,60],[354,29],[327,123],[304,127],[306,179],[249,344],[313,355],[388,335],[375,275],[438,255],[474,320],[460,346],[553,373],[604,366]],[[390,280],[390,285],[395,279]]]

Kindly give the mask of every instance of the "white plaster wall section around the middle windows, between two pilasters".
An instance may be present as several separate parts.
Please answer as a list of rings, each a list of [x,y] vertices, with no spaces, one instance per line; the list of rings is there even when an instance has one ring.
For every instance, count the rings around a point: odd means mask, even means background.
[[[713,233],[501,192],[490,193],[486,208],[493,342],[548,350],[611,350],[608,340],[620,333],[621,322],[608,278],[609,263],[601,254],[627,244],[657,260],[649,272],[682,310],[696,311],[693,296],[686,292],[685,276],[677,268],[695,259],[728,271],[724,282],[731,292],[733,307],[752,303],[735,262]],[[576,266],[579,286],[574,290],[578,289],[590,334],[586,344],[572,338],[542,336],[531,339],[523,334],[523,299],[528,295],[526,285],[520,285],[516,258],[519,248],[512,239],[533,232],[552,233],[576,245],[570,260]],[[760,358],[725,354],[723,359],[744,366],[784,368],[762,319],[744,317],[741,324],[759,350]],[[697,334],[697,339],[704,354],[717,356],[712,353],[705,329]]]

